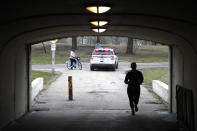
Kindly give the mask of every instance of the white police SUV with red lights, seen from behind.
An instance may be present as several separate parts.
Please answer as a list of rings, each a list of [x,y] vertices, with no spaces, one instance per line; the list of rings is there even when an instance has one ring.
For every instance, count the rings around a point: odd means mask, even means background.
[[[113,71],[118,68],[118,57],[111,48],[94,49],[90,56],[90,70],[99,67],[108,67]]]

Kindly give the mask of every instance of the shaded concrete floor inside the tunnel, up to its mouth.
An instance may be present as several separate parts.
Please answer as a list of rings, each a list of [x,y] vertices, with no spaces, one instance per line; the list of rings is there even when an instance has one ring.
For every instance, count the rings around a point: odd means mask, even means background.
[[[32,112],[8,131],[175,131],[167,113],[141,112],[131,116],[125,110],[67,110]]]

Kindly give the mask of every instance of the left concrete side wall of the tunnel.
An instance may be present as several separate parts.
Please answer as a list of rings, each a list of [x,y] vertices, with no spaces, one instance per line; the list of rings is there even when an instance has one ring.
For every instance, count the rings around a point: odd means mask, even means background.
[[[0,55],[0,129],[27,112],[25,45],[12,44]]]

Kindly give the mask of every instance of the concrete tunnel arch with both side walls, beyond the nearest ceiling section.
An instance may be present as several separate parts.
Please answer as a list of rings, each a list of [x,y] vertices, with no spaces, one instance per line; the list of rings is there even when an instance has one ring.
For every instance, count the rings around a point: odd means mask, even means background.
[[[105,16],[110,18],[109,14]],[[143,14],[115,14],[111,18],[117,20],[123,16],[125,23],[112,23],[109,30],[102,35],[148,39],[171,46],[172,105],[176,105],[174,92],[177,84],[193,89],[196,94],[195,22]],[[3,92],[1,103],[6,103],[4,107],[1,106],[0,113],[4,114],[1,119],[2,125],[27,112],[28,102],[24,98],[27,98],[28,66],[26,64],[28,64],[29,57],[26,45],[66,36],[95,35],[90,31],[86,21],[82,21],[81,24],[77,23],[77,20],[90,17],[89,14],[80,16],[57,13],[22,17],[7,20],[1,24],[3,37],[1,38],[0,59],[4,61],[1,64],[1,92]],[[76,21],[73,22],[73,20]],[[23,89],[21,95],[20,91]],[[9,102],[4,101],[7,96]],[[197,105],[194,106],[196,110]],[[176,106],[172,107],[172,110],[176,112]],[[196,115],[195,118],[197,118]]]

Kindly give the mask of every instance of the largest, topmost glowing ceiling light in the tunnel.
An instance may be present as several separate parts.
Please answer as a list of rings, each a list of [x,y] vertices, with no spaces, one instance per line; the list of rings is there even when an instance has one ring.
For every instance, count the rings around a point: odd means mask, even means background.
[[[104,5],[98,5],[98,6],[87,6],[86,10],[96,13],[96,14],[102,14],[111,9],[110,6],[104,6]]]

